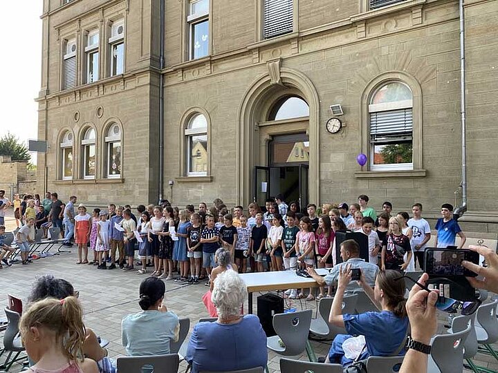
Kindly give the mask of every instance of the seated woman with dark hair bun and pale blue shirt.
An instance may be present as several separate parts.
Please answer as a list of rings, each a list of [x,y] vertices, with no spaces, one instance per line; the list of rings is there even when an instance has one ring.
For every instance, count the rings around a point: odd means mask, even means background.
[[[180,322],[163,304],[165,289],[156,277],[140,283],[142,311],[124,316],[121,322],[122,345],[129,356],[169,354],[169,343],[178,341]]]

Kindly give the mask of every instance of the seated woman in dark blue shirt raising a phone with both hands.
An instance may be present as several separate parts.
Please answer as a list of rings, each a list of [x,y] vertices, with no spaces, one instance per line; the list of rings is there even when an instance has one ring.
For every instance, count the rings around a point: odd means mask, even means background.
[[[407,334],[408,317],[405,299],[405,281],[397,271],[380,271],[375,289],[367,284],[363,274],[358,284],[376,305],[380,312],[364,314],[342,314],[342,300],[347,285],[351,282],[351,267],[341,269],[338,278],[338,289],[335,292],[329,323],[335,327],[344,327],[348,334],[335,336],[326,363],[341,363],[347,366],[354,358],[345,356],[343,343],[353,335],[365,337],[365,347],[360,352],[359,360],[368,356],[403,356],[401,347]],[[358,337],[354,337],[358,338]],[[350,356],[351,357],[351,356]]]

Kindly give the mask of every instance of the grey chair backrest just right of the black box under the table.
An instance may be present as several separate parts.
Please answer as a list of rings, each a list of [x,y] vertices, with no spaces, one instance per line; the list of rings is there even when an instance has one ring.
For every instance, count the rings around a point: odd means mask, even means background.
[[[311,309],[306,309],[273,316],[273,329],[285,345],[285,350],[279,354],[294,356],[304,351],[306,341],[308,341],[312,314]]]

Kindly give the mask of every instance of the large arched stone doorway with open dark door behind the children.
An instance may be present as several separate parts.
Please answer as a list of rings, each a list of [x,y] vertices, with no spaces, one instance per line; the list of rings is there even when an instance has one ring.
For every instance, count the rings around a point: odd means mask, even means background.
[[[261,184],[265,182],[264,175],[267,175],[268,180],[270,180],[269,170],[265,168],[273,166],[284,167],[284,169],[286,166],[297,168],[300,166],[300,175],[298,176],[302,180],[302,203],[306,204],[308,200],[317,202],[320,191],[318,126],[320,104],[317,92],[308,77],[297,70],[280,68],[277,66],[277,61],[268,63],[268,71],[267,75],[259,77],[246,91],[239,109],[236,184],[238,202],[247,205],[249,202],[264,198],[262,191],[265,189],[265,184]],[[290,98],[294,100],[289,101]],[[295,107],[298,102],[306,104],[307,117],[302,116],[303,111],[299,111],[304,108],[304,105]],[[289,107],[299,110],[289,114]],[[284,137],[288,135],[295,135],[295,137]],[[308,144],[306,144],[304,136],[307,137]],[[301,144],[297,144],[299,142]],[[295,146],[299,149],[301,149],[300,147],[307,148],[307,164],[297,161],[293,164],[276,162],[282,161],[285,157],[285,154],[279,153],[279,149],[281,152],[282,147],[289,149],[291,146],[289,144],[293,144],[293,151],[295,151]],[[271,153],[272,149],[273,153]],[[289,163],[292,163],[293,157],[289,158],[290,155],[290,153],[287,154],[286,160],[290,160]],[[273,172],[293,171],[291,169],[280,170]],[[284,176],[284,174],[279,176]],[[271,191],[268,188],[271,187],[268,184],[270,182],[266,181],[266,192],[264,193],[275,196],[273,193],[275,193],[276,188]]]

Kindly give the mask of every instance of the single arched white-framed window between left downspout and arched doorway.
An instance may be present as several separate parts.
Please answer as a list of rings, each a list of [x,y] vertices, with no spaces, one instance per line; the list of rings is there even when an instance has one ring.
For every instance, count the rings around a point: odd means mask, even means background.
[[[202,114],[192,116],[185,128],[188,176],[208,174],[208,120]]]

